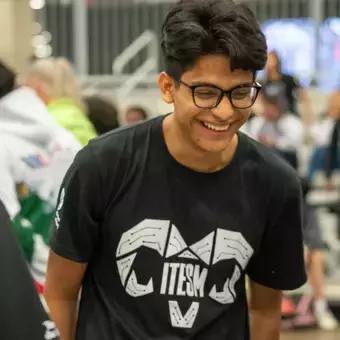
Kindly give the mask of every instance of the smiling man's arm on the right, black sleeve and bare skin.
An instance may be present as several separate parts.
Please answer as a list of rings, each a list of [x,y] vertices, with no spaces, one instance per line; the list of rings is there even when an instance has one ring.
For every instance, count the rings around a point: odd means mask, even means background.
[[[282,291],[306,282],[298,178],[277,178],[271,196],[267,228],[247,268],[252,340],[279,339]]]

